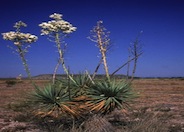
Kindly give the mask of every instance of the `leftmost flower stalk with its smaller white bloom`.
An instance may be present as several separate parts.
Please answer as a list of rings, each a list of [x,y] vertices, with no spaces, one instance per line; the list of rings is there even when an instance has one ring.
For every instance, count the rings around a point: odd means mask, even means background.
[[[29,70],[27,60],[25,58],[25,54],[26,52],[28,52],[27,49],[30,47],[30,45],[25,45],[25,44],[31,44],[33,42],[36,42],[38,38],[37,36],[32,35],[30,33],[21,33],[21,30],[20,30],[21,27],[26,27],[26,26],[27,25],[22,21],[16,22],[14,25],[16,32],[10,31],[7,33],[2,33],[2,35],[4,40],[10,40],[16,46],[16,49],[12,47],[11,49],[15,50],[19,54],[22,60],[22,63],[24,65],[25,71],[28,75],[28,78],[31,79],[31,72]]]

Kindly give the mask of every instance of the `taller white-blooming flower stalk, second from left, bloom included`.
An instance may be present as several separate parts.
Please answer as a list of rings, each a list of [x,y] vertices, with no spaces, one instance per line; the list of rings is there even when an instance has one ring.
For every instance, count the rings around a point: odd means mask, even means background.
[[[56,43],[56,47],[59,53],[59,60],[53,73],[53,84],[55,82],[56,73],[60,64],[62,64],[62,67],[69,78],[73,80],[73,78],[69,75],[68,69],[65,65],[64,50],[66,45],[62,43],[61,38],[64,39],[66,36],[68,36],[68,34],[76,31],[77,28],[73,27],[69,22],[63,20],[61,14],[54,13],[50,15],[50,18],[53,20],[43,22],[39,24],[39,26],[42,28],[41,35],[48,35],[49,37],[54,38],[54,42]]]

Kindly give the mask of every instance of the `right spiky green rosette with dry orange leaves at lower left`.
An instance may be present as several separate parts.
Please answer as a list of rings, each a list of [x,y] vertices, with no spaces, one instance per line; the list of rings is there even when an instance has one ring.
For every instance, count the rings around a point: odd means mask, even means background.
[[[91,112],[108,114],[115,108],[128,107],[128,102],[134,97],[134,93],[125,81],[100,81],[88,89],[87,96],[90,98],[86,105]]]

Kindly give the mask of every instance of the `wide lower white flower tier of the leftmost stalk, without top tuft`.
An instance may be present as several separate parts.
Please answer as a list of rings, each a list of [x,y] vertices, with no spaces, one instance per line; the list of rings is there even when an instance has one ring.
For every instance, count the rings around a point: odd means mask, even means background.
[[[3,39],[13,41],[15,45],[21,45],[23,43],[35,42],[38,37],[30,33],[20,33],[20,32],[7,32],[2,33]]]

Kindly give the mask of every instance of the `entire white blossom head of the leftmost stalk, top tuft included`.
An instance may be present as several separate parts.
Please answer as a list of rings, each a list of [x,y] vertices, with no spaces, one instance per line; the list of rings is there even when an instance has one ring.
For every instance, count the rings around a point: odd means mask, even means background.
[[[7,33],[2,33],[3,39],[13,41],[15,45],[35,42],[38,39],[37,36],[32,35],[30,33],[20,32],[20,27],[26,27],[26,26],[27,25],[22,21],[16,22],[14,27],[16,28],[17,31],[16,32],[10,31]]]

